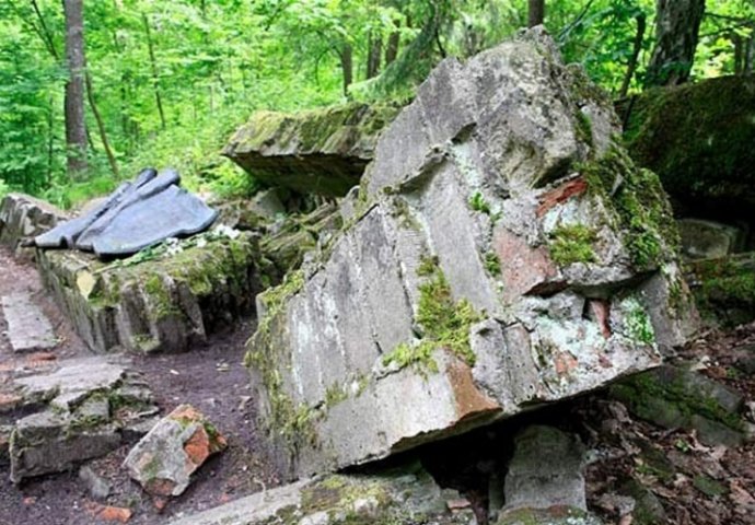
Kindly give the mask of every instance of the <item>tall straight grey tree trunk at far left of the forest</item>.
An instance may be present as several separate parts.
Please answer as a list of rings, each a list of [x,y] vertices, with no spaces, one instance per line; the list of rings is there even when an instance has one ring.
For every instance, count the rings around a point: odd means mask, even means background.
[[[84,8],[83,0],[63,0],[66,16],[66,145],[68,176],[81,178],[86,173],[86,122],[84,120]]]

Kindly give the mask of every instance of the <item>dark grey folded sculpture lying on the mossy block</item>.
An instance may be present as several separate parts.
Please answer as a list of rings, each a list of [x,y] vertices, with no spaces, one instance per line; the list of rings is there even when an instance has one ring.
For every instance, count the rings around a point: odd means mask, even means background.
[[[78,248],[114,257],[208,229],[218,213],[179,184],[179,175],[172,170],[158,174],[147,168],[89,213],[37,235],[34,243],[40,248]]]

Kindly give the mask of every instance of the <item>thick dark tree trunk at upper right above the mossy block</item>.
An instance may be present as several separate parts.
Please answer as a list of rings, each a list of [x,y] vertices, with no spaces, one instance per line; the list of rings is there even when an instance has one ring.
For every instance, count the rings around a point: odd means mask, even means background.
[[[655,48],[646,86],[689,80],[704,14],[705,0],[657,0]]]

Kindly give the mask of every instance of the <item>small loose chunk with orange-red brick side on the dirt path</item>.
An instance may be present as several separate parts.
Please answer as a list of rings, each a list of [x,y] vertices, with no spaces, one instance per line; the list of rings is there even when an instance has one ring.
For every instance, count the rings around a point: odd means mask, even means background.
[[[226,446],[225,438],[201,412],[181,405],[131,448],[124,467],[150,494],[181,495],[191,475]]]

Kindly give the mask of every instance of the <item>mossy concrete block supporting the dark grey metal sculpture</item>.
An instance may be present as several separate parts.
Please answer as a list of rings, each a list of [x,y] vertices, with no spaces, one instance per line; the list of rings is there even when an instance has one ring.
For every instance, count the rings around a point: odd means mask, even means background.
[[[40,250],[39,271],[92,350],[181,352],[253,310],[257,256],[251,234],[210,231],[141,261]]]

